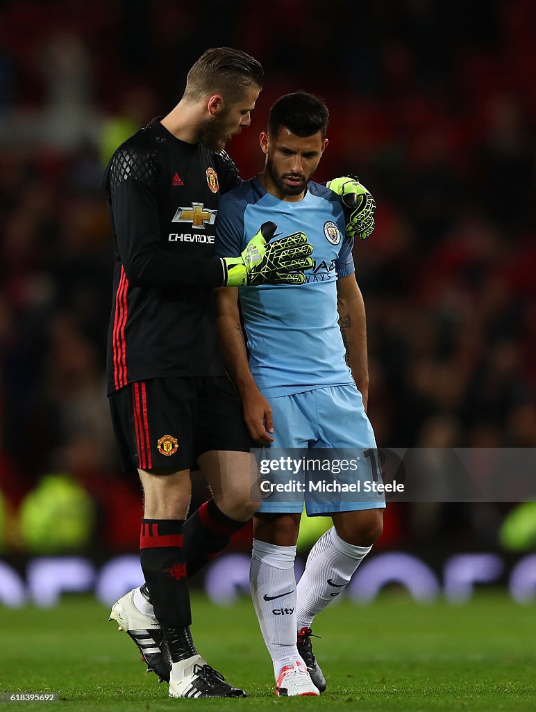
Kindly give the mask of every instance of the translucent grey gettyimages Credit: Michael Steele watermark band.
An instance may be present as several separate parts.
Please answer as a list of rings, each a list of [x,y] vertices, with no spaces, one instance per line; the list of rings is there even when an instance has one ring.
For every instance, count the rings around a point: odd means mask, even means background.
[[[259,448],[266,503],[520,502],[536,499],[534,448]]]

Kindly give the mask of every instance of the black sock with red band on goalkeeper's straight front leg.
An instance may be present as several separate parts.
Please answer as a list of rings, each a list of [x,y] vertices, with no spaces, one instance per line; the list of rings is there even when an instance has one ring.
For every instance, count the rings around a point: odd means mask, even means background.
[[[146,590],[173,662],[196,654],[188,627],[190,595],[183,549],[183,520],[144,519],[140,535],[141,569]]]

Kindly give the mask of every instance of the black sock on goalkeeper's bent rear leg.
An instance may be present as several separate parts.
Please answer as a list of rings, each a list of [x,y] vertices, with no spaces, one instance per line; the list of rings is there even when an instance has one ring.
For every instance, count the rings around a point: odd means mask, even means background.
[[[193,576],[208,561],[218,556],[230,542],[232,535],[246,524],[247,522],[227,517],[218,509],[213,499],[202,504],[183,525],[188,576]]]

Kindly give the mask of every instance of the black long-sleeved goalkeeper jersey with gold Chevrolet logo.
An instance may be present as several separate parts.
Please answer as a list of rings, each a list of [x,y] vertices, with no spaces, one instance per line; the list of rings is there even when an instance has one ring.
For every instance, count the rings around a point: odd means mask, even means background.
[[[225,152],[178,140],[157,119],[110,159],[108,394],[154,377],[225,374],[212,293],[223,284],[214,221],[220,193],[239,183]]]

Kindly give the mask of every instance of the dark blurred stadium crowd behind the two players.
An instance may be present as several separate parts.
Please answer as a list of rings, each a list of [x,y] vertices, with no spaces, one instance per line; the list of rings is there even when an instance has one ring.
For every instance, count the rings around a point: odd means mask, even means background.
[[[139,487],[119,471],[105,397],[99,183],[210,46],[267,74],[252,127],[228,145],[242,177],[262,168],[271,103],[303,89],[331,111],[316,179],[352,172],[375,196],[354,258],[378,444],[536,447],[535,26],[532,0],[2,2],[4,552],[39,550],[36,517],[62,496],[87,511],[87,548],[137,547]],[[399,505],[378,545],[493,545],[511,508]]]

